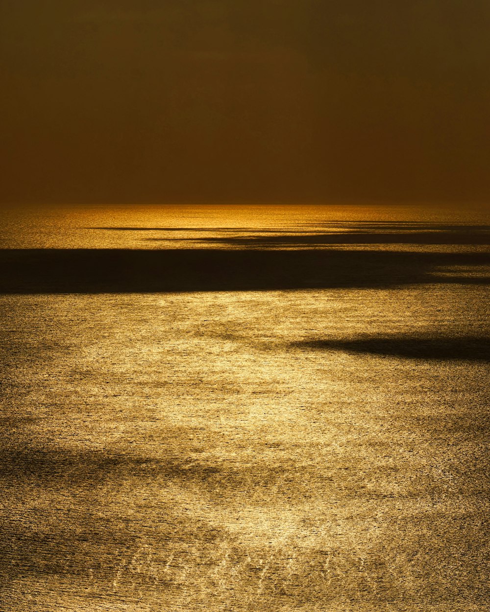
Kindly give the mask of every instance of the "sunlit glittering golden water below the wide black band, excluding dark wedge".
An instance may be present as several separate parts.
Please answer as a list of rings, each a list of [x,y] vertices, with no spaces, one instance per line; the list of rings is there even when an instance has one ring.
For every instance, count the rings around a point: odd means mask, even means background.
[[[4,600],[483,605],[488,367],[307,345],[366,329],[488,334],[481,297],[4,298],[6,329],[23,330],[4,371]]]

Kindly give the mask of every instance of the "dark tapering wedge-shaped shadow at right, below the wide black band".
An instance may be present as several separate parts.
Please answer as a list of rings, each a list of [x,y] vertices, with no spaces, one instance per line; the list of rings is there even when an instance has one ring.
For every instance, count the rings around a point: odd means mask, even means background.
[[[306,351],[344,351],[404,359],[464,360],[490,362],[490,338],[372,336],[352,340],[304,340],[289,345]]]

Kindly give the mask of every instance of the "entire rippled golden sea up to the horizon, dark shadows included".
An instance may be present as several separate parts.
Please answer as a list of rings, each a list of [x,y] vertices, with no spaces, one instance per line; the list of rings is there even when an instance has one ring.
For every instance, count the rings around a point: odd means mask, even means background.
[[[488,208],[1,214],[1,610],[490,606]]]

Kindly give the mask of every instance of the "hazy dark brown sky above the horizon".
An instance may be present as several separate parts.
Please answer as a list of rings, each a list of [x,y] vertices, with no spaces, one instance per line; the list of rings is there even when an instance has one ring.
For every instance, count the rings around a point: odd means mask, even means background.
[[[2,201],[490,200],[488,0],[0,0]]]

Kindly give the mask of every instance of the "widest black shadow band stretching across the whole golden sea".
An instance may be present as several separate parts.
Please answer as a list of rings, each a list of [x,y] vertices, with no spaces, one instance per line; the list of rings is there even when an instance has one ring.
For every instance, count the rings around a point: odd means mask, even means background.
[[[486,253],[382,250],[0,250],[0,293],[178,293],[490,284]],[[445,275],[444,269],[464,269]],[[470,272],[470,275],[467,275]]]

